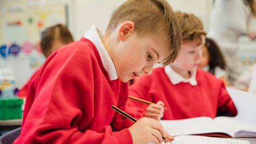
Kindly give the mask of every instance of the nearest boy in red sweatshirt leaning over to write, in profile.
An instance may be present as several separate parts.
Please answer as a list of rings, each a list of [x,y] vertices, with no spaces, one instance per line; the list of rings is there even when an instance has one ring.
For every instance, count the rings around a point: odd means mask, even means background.
[[[130,119],[127,82],[173,61],[180,26],[164,0],[129,0],[113,13],[107,32],[93,26],[80,41],[55,51],[29,87],[20,137],[14,143],[161,143],[158,121]],[[127,129],[128,128],[128,129]]]

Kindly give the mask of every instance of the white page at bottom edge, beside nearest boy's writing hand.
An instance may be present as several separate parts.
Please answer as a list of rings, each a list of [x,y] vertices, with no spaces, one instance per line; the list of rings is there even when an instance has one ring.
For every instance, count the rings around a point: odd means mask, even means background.
[[[166,142],[165,144],[250,144],[250,142],[245,140],[212,138],[197,135],[181,135],[174,137],[172,143]]]

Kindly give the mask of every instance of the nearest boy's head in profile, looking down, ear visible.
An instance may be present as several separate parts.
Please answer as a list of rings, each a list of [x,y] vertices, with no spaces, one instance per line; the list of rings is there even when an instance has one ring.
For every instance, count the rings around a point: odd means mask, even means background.
[[[181,30],[164,0],[128,0],[111,16],[103,43],[123,82],[150,74],[154,63],[172,62],[181,45]]]

